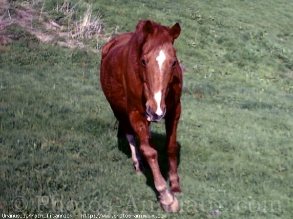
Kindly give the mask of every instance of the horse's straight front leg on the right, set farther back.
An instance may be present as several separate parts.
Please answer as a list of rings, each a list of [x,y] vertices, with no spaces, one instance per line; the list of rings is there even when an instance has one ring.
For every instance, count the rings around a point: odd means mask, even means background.
[[[178,144],[176,141],[177,125],[181,114],[181,104],[175,108],[167,109],[165,116],[165,127],[167,135],[167,156],[169,161],[169,180],[171,183],[172,192],[182,192],[179,186],[179,176],[177,172],[178,165]]]

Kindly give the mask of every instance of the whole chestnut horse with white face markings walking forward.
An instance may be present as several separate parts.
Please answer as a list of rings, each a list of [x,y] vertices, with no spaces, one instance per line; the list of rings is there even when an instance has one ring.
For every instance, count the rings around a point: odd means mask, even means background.
[[[135,32],[110,40],[102,50],[101,85],[115,117],[118,137],[126,135],[136,172],[142,171],[140,151],[149,164],[159,201],[165,211],[179,210],[174,192],[181,192],[177,173],[177,124],[181,114],[182,72],[173,47],[180,25],[171,28],[142,20]],[[171,191],[158,165],[151,142],[150,122],[165,118]]]

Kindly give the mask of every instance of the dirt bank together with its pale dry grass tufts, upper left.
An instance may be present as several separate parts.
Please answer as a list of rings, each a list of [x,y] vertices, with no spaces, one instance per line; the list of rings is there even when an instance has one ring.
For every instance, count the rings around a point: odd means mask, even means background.
[[[92,6],[87,5],[84,15],[78,20],[73,19],[77,5],[71,5],[69,0],[64,0],[62,5],[57,5],[54,10],[63,13],[67,20],[67,25],[60,25],[43,11],[45,1],[35,2],[8,2],[0,0],[0,44],[5,45],[12,40],[18,40],[7,27],[16,24],[24,28],[40,42],[55,43],[60,46],[75,48],[87,48],[93,52],[99,52],[101,44],[108,41],[112,34],[104,34],[104,24],[101,15],[93,15]],[[35,4],[42,5],[40,10],[33,9]],[[88,46],[88,40],[97,40],[95,48]]]

